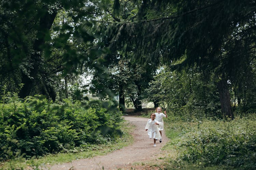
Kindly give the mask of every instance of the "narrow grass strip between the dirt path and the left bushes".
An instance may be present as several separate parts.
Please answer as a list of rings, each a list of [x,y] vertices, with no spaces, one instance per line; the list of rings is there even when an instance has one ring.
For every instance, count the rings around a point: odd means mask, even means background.
[[[72,160],[89,158],[99,155],[105,155],[112,151],[121,149],[133,143],[133,138],[129,134],[130,130],[134,129],[134,126],[123,121],[121,124],[121,130],[123,131],[123,136],[117,141],[112,143],[106,143],[105,145],[91,145],[87,149],[77,149],[74,152],[68,153],[58,153],[58,154],[48,154],[40,158],[31,158],[26,160],[25,158],[15,158],[9,160],[8,162],[0,164],[0,170],[5,169],[38,169],[51,167],[51,165],[72,162]]]

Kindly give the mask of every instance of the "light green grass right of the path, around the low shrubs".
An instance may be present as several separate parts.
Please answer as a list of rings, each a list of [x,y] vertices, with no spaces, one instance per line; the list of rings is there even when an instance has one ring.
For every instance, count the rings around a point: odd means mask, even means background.
[[[141,116],[142,117],[148,117],[149,113],[144,113]],[[228,165],[225,162],[219,165],[214,165],[210,160],[210,162],[203,161],[206,160],[205,157],[202,157],[201,160],[193,161],[193,160],[183,160],[182,154],[192,154],[191,152],[188,152],[188,149],[190,147],[193,147],[192,149],[196,149],[200,146],[200,143],[194,142],[193,136],[197,137],[200,140],[200,136],[202,134],[209,134],[207,129],[216,130],[216,134],[213,133],[212,135],[218,137],[218,139],[222,138],[222,135],[218,135],[219,131],[226,131],[228,134],[228,127],[232,127],[232,135],[230,135],[230,138],[237,138],[236,134],[239,131],[241,131],[241,134],[246,133],[247,126],[246,124],[250,124],[250,126],[253,128],[255,127],[256,121],[255,117],[250,117],[248,119],[240,119],[239,117],[237,120],[233,120],[231,122],[229,121],[222,121],[222,120],[192,120],[192,121],[184,121],[179,120],[179,118],[172,118],[171,115],[168,115],[168,119],[164,119],[165,121],[165,134],[169,138],[169,142],[166,143],[165,146],[161,148],[160,154],[157,158],[157,160],[153,160],[151,162],[143,163],[139,165],[133,164],[133,169],[140,169],[140,168],[147,168],[147,169],[202,169],[202,170],[215,170],[215,169],[241,169],[242,167],[233,167],[232,164]],[[242,129],[242,130],[241,130]],[[204,132],[204,133],[203,133]],[[251,133],[248,133],[251,134]],[[210,135],[210,134],[209,134]],[[192,138],[191,138],[192,136]],[[203,136],[202,136],[203,137]],[[208,137],[208,136],[206,136]],[[223,136],[225,138],[225,136]],[[210,136],[209,136],[210,138]],[[197,139],[197,140],[198,140]],[[239,139],[239,138],[237,138]],[[188,140],[188,143],[191,143],[190,146],[181,146],[181,143],[183,143],[185,140]],[[235,140],[236,141],[236,140]],[[215,144],[216,146],[221,146],[222,143]],[[243,146],[243,144],[241,144]],[[239,144],[238,144],[239,146]],[[227,146],[228,147],[228,146]],[[191,148],[190,148],[191,149]],[[246,148],[244,148],[246,150]],[[207,152],[207,151],[205,151]],[[209,152],[211,154],[211,152]],[[196,154],[196,153],[195,153]],[[254,152],[255,155],[255,152]],[[192,155],[193,156],[193,155]],[[246,156],[246,155],[245,155]],[[228,157],[226,158],[227,160]],[[212,159],[213,160],[213,159]],[[239,160],[239,159],[238,159]],[[249,164],[250,162],[245,162],[245,169],[246,164]],[[255,164],[255,161],[254,161]],[[252,167],[252,166],[247,166]],[[243,168],[242,168],[243,169]]]

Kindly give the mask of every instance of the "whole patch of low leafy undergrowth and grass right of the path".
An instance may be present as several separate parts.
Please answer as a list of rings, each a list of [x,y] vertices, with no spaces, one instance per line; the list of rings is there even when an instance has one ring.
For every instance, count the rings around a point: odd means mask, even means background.
[[[255,169],[255,114],[232,121],[184,119],[168,115],[167,136],[178,150],[171,164],[199,169]]]

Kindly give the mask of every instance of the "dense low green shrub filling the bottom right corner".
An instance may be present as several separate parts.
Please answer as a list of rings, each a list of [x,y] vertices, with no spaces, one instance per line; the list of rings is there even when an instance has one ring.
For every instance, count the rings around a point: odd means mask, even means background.
[[[181,158],[191,163],[256,168],[256,122],[205,121],[183,137]]]

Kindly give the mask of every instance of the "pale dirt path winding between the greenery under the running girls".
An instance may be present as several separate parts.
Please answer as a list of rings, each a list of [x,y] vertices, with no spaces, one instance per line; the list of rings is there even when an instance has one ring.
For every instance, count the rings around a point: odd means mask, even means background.
[[[153,147],[153,139],[149,139],[145,131],[147,118],[125,116],[125,120],[130,121],[136,126],[135,131],[131,132],[134,137],[132,145],[116,150],[104,156],[96,156],[93,158],[74,160],[72,163],[54,165],[51,170],[99,170],[104,169],[130,169],[132,163],[147,162],[158,158],[160,148],[164,146],[168,140],[165,133],[162,133],[162,143],[156,142]]]

